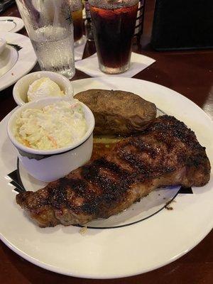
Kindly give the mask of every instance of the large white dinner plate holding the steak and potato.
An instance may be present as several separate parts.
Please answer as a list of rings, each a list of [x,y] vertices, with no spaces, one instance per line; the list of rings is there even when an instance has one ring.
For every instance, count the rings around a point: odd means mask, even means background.
[[[212,121],[181,94],[131,78],[91,78],[72,83],[75,94],[91,88],[121,89],[154,102],[159,109],[176,116],[195,131],[213,163]],[[171,204],[173,210],[161,209],[142,222],[129,226],[87,229],[84,235],[77,226],[38,228],[16,204],[15,187],[10,184],[8,174],[16,170],[17,156],[6,136],[9,116],[0,124],[0,238],[28,261],[50,271],[83,278],[126,277],[175,261],[212,229],[212,178],[204,187],[192,187],[193,194],[178,194]],[[36,190],[43,185],[21,170],[20,173],[27,190]],[[131,208],[128,210],[131,212]]]

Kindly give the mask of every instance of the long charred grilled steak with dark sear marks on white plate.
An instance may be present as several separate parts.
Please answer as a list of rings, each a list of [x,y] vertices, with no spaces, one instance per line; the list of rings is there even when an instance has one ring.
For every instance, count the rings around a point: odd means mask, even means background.
[[[160,186],[202,186],[210,163],[195,133],[173,116],[160,116],[110,155],[87,163],[16,202],[39,226],[86,224],[108,218]]]

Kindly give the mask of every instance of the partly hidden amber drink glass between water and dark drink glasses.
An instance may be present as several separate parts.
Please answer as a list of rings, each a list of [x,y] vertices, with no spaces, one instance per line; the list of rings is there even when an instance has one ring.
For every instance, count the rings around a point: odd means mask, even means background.
[[[83,43],[82,0],[70,0],[75,46]]]

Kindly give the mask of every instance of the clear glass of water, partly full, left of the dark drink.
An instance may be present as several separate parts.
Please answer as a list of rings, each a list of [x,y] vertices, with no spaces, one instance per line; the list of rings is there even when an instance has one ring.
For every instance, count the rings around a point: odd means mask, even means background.
[[[73,23],[67,0],[16,0],[41,70],[75,75]]]

